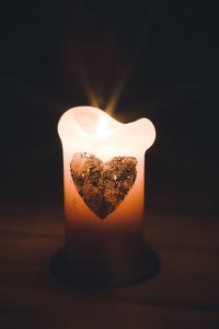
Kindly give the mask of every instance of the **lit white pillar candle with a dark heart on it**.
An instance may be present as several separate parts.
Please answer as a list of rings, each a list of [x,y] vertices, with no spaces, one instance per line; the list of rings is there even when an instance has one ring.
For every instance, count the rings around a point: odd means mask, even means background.
[[[58,123],[64,155],[66,258],[78,276],[119,282],[142,250],[145,152],[155,129],[147,118],[122,124],[79,106]]]

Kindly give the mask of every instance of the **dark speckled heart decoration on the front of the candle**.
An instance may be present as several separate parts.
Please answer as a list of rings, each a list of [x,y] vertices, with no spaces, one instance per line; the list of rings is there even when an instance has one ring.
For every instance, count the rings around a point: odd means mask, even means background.
[[[115,211],[132,188],[136,166],[135,157],[115,157],[103,162],[94,155],[77,152],[70,172],[80,196],[103,219]]]

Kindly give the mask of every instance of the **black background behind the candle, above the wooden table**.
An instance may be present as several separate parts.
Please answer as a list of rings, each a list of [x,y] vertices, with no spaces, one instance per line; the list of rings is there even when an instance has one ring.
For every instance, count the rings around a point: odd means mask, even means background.
[[[218,10],[209,1],[8,1],[0,10],[0,196],[62,202],[60,115],[149,117],[148,207],[218,214]]]

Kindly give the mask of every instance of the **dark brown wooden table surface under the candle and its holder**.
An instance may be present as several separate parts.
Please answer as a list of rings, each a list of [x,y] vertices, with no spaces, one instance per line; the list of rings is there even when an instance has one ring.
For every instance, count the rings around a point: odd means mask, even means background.
[[[161,260],[153,279],[117,288],[70,287],[49,273],[65,243],[62,207],[0,205],[0,328],[219,328],[219,220],[147,214]]]

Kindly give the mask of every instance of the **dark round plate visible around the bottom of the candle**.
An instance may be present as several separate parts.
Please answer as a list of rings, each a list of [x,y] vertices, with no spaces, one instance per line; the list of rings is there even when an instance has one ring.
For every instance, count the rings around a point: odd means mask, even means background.
[[[117,275],[113,275],[112,277],[110,273],[94,275],[89,272],[79,272],[73,264],[67,260],[66,249],[61,248],[53,256],[49,270],[55,276],[72,286],[122,286],[146,281],[157,275],[160,271],[160,260],[158,253],[145,245],[136,268],[128,273],[127,271],[124,273],[119,271]]]

